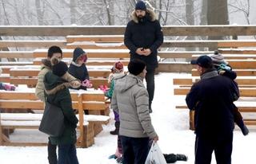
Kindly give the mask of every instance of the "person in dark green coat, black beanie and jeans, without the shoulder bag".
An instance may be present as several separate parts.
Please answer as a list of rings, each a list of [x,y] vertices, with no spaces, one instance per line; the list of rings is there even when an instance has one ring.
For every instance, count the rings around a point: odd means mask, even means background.
[[[44,78],[46,100],[57,107],[61,107],[64,114],[65,130],[61,136],[50,136],[50,142],[58,145],[58,164],[78,164],[75,143],[77,117],[74,115],[72,101],[68,87],[70,83],[61,76],[66,74],[67,66],[62,61],[54,61],[52,72],[47,72]]]

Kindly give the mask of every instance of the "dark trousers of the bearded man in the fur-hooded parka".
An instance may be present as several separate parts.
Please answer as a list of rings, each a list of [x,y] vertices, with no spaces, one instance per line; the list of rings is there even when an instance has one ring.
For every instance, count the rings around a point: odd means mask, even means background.
[[[150,96],[150,105],[154,99],[154,69],[146,69],[146,90]]]

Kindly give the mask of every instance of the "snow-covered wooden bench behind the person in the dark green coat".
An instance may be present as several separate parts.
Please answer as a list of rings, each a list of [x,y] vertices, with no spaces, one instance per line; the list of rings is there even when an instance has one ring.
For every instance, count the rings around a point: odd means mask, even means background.
[[[109,117],[100,115],[84,115],[84,109],[90,114],[109,114],[109,103],[106,103],[103,92],[71,92],[72,106],[78,110],[78,142],[81,147],[94,144],[94,136],[102,131],[102,123],[108,123]],[[38,129],[42,116],[43,103],[34,92],[0,92],[0,108],[5,111],[15,110],[18,113],[2,113],[0,115],[0,144],[2,146],[42,146],[46,143],[12,142],[3,133],[4,129]],[[41,114],[20,113],[24,109],[41,110]],[[40,112],[40,111],[38,111]],[[2,119],[3,116],[3,119]]]

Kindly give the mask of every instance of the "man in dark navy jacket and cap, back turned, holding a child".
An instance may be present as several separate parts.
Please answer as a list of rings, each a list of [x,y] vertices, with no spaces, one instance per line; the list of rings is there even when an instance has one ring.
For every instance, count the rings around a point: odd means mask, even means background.
[[[201,80],[186,96],[186,104],[194,110],[195,164],[210,164],[214,151],[217,163],[230,164],[233,143],[234,117],[232,103],[238,87],[233,80],[219,76],[208,56],[198,57]]]

